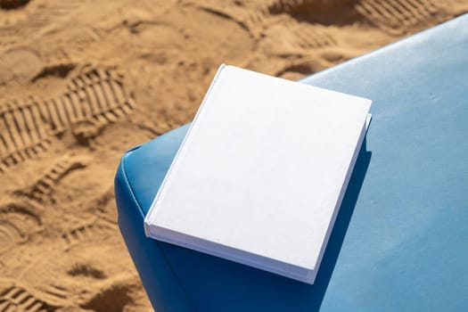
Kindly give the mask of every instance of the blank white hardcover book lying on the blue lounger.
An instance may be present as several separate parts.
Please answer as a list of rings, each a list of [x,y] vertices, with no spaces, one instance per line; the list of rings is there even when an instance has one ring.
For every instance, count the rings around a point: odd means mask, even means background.
[[[314,283],[370,106],[221,65],[152,202],[145,233]]]

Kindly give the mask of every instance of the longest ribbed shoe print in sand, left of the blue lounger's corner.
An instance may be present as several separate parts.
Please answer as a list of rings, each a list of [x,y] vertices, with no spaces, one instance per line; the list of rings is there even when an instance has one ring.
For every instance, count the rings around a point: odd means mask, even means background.
[[[134,109],[123,76],[116,70],[91,68],[75,78],[60,94],[41,100],[0,104],[0,172],[45,152],[53,135],[71,130],[86,143],[100,129]]]

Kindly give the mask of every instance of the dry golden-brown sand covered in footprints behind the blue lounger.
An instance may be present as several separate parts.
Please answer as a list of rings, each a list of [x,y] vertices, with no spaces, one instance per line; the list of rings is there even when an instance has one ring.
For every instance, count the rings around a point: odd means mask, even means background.
[[[115,169],[193,118],[221,62],[298,79],[467,10],[0,0],[0,312],[151,310],[116,225]]]

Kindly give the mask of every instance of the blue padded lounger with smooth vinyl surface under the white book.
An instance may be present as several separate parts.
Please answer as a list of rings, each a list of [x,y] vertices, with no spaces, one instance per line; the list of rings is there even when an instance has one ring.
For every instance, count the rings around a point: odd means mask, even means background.
[[[185,126],[127,152],[116,176],[119,226],[153,307],[468,310],[468,15],[301,82],[374,100],[316,283],[144,237]]]

